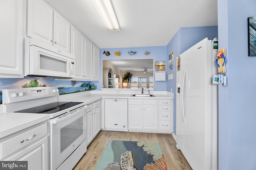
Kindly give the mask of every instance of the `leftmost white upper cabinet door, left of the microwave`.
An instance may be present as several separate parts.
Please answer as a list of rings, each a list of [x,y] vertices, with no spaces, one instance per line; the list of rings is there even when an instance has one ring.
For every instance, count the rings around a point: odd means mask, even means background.
[[[24,0],[0,1],[0,77],[23,77],[23,3]]]

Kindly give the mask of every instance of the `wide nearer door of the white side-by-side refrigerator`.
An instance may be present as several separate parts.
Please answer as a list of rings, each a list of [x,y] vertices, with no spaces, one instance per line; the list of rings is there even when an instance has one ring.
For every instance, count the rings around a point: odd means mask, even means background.
[[[206,41],[188,49],[185,60],[184,156],[193,169],[204,170]]]

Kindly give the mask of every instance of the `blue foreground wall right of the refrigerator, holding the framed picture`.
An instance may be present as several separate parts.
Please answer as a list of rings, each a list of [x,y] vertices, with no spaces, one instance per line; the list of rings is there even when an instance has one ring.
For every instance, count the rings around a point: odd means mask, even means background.
[[[248,57],[247,18],[256,0],[218,0],[219,48],[227,86],[219,86],[219,170],[256,170],[256,57]]]

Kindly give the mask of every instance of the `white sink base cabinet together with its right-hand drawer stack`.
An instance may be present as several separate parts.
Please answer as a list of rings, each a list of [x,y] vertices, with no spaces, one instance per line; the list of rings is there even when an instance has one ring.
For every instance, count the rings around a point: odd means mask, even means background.
[[[128,130],[172,133],[173,99],[128,99]]]

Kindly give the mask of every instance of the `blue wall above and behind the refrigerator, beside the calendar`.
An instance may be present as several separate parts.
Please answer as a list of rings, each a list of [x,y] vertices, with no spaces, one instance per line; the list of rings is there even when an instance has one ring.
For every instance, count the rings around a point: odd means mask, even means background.
[[[167,91],[174,93],[174,133],[176,134],[176,70],[177,63],[176,57],[182,54],[184,51],[201,41],[202,39],[208,37],[208,39],[214,39],[218,37],[218,26],[210,27],[186,27],[180,28],[171,41],[167,45],[167,56],[170,51],[173,49],[174,61],[170,64],[173,64],[172,70],[168,68],[168,73],[174,74],[173,80],[167,80]]]

